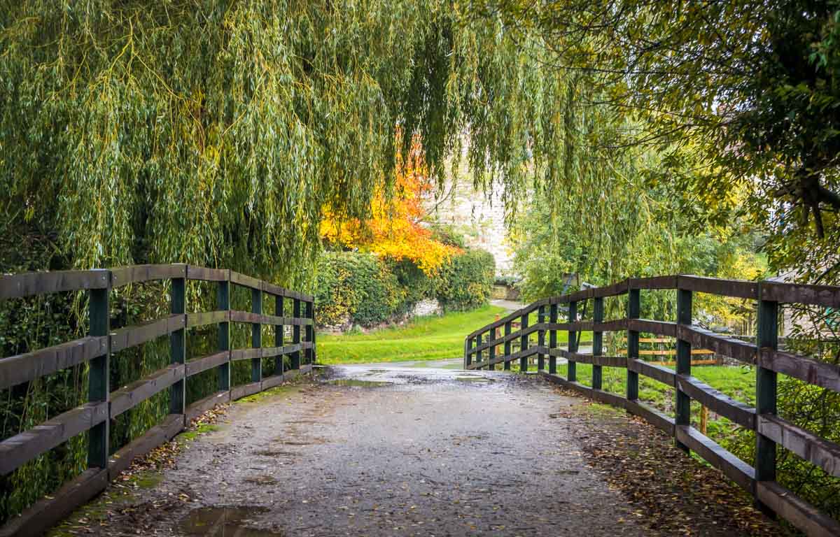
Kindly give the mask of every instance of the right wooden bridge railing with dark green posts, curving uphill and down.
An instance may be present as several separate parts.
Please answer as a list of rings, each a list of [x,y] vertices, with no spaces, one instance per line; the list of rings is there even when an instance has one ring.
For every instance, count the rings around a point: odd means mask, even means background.
[[[640,292],[643,289],[675,289],[677,318],[673,321],[652,321],[640,317]],[[755,300],[758,314],[756,342],[721,336],[692,325],[692,296],[707,293]],[[627,295],[627,315],[622,319],[604,321],[604,299]],[[586,300],[594,302],[592,321],[578,320],[578,306]],[[790,352],[780,352],[780,304],[818,305],[840,308],[840,287],[826,285],[785,284],[780,282],[750,282],[698,276],[660,276],[626,279],[597,289],[585,289],[570,295],[543,299],[514,311],[499,321],[472,332],[465,339],[464,367],[466,369],[494,369],[503,363],[509,369],[519,361],[520,370],[528,370],[528,358],[538,357],[538,370],[554,383],[584,394],[591,399],[612,404],[637,414],[651,424],[675,437],[677,446],[695,451],[713,467],[720,469],[756,498],[759,506],[779,514],[809,535],[840,535],[840,524],[822,514],[811,504],[776,482],[776,446],[792,451],[833,477],[840,477],[840,446],[808,430],[780,418],[776,414],[777,376],[783,373],[809,384],[840,391],[840,367]],[[566,305],[568,319],[559,322],[558,306]],[[537,313],[537,324],[528,325],[528,318]],[[512,323],[519,320],[519,329]],[[499,331],[503,330],[500,336]],[[568,349],[557,348],[557,331],[568,331]],[[576,337],[579,331],[592,331],[591,354],[578,352]],[[603,334],[627,331],[627,356],[604,356]],[[676,339],[675,370],[639,359],[639,333]],[[536,345],[531,338],[536,337]],[[548,336],[548,344],[546,344]],[[518,340],[519,350],[512,352],[512,341]],[[501,356],[497,347],[503,346]],[[732,357],[755,366],[756,406],[753,408],[717,391],[691,376],[691,348],[711,349],[717,354]],[[544,371],[545,358],[548,372]],[[557,374],[557,357],[568,360],[568,376]],[[592,365],[591,386],[578,382],[575,365]],[[627,392],[624,397],[602,389],[602,368],[627,370]],[[654,378],[675,389],[675,417],[659,412],[638,399],[638,376]],[[694,399],[734,423],[756,433],[753,466],[740,460],[715,441],[691,426],[690,402]],[[840,424],[838,424],[840,425]]]

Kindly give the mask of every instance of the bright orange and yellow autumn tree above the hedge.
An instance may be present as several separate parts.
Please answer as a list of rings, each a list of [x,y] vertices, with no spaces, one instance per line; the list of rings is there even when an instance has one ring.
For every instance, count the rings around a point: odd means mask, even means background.
[[[396,147],[400,147],[397,143]],[[423,227],[423,196],[433,189],[423,146],[415,138],[407,159],[396,155],[396,177],[389,196],[377,190],[370,202],[370,218],[337,219],[327,212],[321,222],[321,236],[343,248],[359,248],[394,261],[411,261],[427,275],[437,274],[441,265],[460,248],[433,238]]]

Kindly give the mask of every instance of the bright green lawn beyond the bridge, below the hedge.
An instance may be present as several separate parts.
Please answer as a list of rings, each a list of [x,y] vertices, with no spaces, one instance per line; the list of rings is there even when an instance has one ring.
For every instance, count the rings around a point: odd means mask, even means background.
[[[318,336],[318,362],[369,363],[444,360],[464,356],[464,338],[475,329],[503,317],[507,310],[486,306],[478,310],[417,317],[403,326],[391,326],[365,334]],[[536,322],[536,321],[534,321]],[[499,335],[501,336],[501,329]],[[557,334],[565,344],[567,334]],[[581,335],[581,344],[591,341],[591,332]],[[531,336],[532,345],[537,336]]]

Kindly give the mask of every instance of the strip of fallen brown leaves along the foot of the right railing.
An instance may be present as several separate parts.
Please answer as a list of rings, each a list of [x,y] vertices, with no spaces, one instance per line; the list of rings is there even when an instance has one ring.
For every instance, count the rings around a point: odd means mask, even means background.
[[[580,399],[580,395],[561,390]],[[753,498],[722,472],[686,456],[641,418],[577,405],[554,417],[578,427],[586,461],[633,505],[633,516],[665,535],[783,535],[788,532],[753,508]]]

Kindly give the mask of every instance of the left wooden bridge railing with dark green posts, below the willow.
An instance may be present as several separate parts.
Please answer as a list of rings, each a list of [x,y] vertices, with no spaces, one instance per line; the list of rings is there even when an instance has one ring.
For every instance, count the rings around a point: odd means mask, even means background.
[[[169,280],[171,315],[145,323],[112,330],[109,295],[127,284]],[[186,282],[215,282],[216,310],[187,312]],[[231,284],[250,289],[251,310],[231,310]],[[315,315],[313,297],[283,289],[260,279],[228,269],[207,269],[186,264],[139,265],[119,269],[38,272],[0,276],[0,301],[58,292],[86,291],[89,294],[90,331],[87,336],[54,347],[0,359],[0,389],[31,382],[64,368],[89,363],[88,402],[54,418],[0,441],[0,475],[6,475],[36,456],[88,432],[87,470],[48,498],[27,508],[0,528],[5,535],[39,534],[63,519],[73,508],[87,502],[108,485],[135,456],[143,455],[184,429],[193,417],[215,404],[240,399],[274,387],[301,373],[315,361]],[[283,313],[284,300],[291,300],[292,315],[265,315],[263,295],[275,300],[275,313]],[[230,323],[247,323],[251,328],[251,347],[230,348]],[[217,352],[186,361],[186,330],[217,325]],[[274,326],[274,347],[263,347],[262,326]],[[291,341],[284,341],[284,329],[291,326]],[[112,352],[140,345],[160,336],[170,336],[171,363],[155,373],[111,391],[108,385]],[[291,368],[284,371],[284,356]],[[275,357],[276,374],[263,377],[262,358]],[[251,362],[251,382],[232,387],[230,364]],[[218,391],[186,406],[186,382],[193,375],[216,369]],[[108,425],[126,410],[170,390],[170,410],[164,420],[116,453],[108,451]]]

